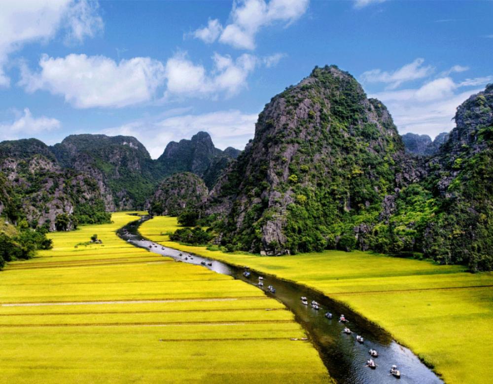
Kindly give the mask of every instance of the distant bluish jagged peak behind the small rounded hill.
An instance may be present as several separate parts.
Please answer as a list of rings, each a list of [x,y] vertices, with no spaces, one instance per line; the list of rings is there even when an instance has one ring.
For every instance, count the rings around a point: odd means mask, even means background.
[[[240,153],[241,151],[231,147],[221,151],[214,147],[211,136],[207,132],[198,132],[191,140],[170,142],[157,159],[157,164],[166,175],[177,172],[195,173],[211,188],[223,169]]]

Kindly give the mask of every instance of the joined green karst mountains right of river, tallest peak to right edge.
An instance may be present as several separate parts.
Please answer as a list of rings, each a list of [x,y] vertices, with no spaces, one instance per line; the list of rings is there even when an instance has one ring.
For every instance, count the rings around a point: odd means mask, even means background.
[[[492,95],[467,100],[447,142],[417,158],[351,75],[316,68],[266,105],[205,213],[231,249],[372,249],[492,269]]]

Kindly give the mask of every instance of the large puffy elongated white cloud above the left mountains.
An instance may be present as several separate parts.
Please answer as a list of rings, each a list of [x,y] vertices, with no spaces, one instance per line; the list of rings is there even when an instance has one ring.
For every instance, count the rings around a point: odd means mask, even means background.
[[[28,92],[47,90],[64,96],[75,108],[125,107],[149,101],[164,82],[164,66],[148,57],[116,63],[104,56],[43,55],[41,70],[22,70],[21,85]]]

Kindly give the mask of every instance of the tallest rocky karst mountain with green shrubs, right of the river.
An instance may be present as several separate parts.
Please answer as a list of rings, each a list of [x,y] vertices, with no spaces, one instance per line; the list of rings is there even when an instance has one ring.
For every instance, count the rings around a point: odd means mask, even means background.
[[[404,157],[385,106],[348,73],[316,68],[266,105],[253,141],[211,192],[208,213],[223,215],[221,241],[241,249],[346,248],[354,234],[345,223],[378,216]]]

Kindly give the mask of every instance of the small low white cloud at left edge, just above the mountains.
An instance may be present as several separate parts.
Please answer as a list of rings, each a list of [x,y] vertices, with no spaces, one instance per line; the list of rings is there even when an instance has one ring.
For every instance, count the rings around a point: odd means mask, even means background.
[[[24,115],[11,123],[0,123],[0,140],[13,140],[20,137],[32,137],[34,134],[59,129],[61,123],[56,118],[46,116],[33,117],[29,108]]]

